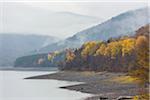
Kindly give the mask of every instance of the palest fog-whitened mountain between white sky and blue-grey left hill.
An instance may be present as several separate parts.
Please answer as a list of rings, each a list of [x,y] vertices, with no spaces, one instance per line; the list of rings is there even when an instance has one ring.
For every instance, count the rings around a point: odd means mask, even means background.
[[[4,3],[1,7],[0,33],[32,33],[66,38],[101,22],[96,17],[53,12],[21,3]]]

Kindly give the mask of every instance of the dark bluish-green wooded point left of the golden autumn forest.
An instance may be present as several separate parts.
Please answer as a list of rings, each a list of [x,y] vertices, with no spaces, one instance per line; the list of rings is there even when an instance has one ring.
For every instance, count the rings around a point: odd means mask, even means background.
[[[66,51],[49,54],[35,54],[16,59],[14,67],[58,67],[59,62],[65,61]]]

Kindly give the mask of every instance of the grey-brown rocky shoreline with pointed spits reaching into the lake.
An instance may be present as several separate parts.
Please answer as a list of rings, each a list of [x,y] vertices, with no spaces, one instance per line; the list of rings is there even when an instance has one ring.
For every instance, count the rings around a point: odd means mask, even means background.
[[[94,97],[89,97],[86,100],[130,100],[132,96],[138,95],[138,91],[140,90],[138,84],[136,82],[119,83],[112,81],[113,78],[126,75],[126,73],[110,72],[61,71],[54,74],[28,77],[25,79],[56,79],[83,82],[82,84],[63,86],[60,88],[95,95]]]

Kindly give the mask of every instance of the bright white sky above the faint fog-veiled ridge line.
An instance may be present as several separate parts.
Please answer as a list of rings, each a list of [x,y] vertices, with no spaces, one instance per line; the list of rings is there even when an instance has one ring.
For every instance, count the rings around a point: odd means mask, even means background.
[[[141,8],[147,5],[147,3],[141,2],[26,2],[26,4],[41,7],[43,9],[49,9],[51,11],[69,11],[88,16],[95,16],[102,19],[108,19],[122,12]]]

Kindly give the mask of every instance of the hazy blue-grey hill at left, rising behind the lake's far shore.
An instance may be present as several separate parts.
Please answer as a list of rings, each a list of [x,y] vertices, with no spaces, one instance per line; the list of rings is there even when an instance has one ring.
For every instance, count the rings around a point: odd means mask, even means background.
[[[0,65],[12,65],[17,57],[57,41],[50,36],[0,34]]]

